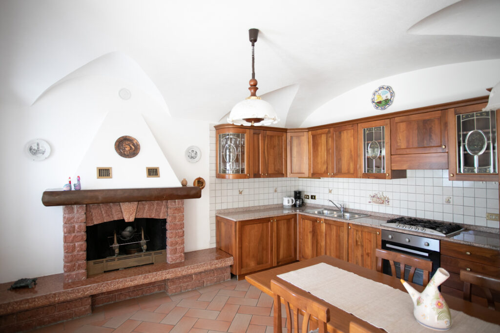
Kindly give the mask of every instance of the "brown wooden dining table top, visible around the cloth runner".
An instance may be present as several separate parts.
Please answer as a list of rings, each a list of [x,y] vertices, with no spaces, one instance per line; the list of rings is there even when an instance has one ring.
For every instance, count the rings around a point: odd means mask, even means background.
[[[306,291],[295,287],[288,282],[280,279],[277,277],[277,275],[295,271],[301,268],[309,267],[312,265],[316,265],[319,263],[325,263],[337,268],[340,268],[342,270],[352,272],[358,276],[361,276],[366,279],[370,279],[375,282],[379,282],[385,285],[388,285],[392,288],[399,289],[403,292],[406,292],[402,284],[400,283],[399,279],[393,278],[389,275],[382,274],[379,272],[376,272],[374,270],[370,270],[355,264],[351,264],[348,262],[345,262],[340,259],[335,259],[329,256],[319,256],[315,257],[312,259],[304,260],[304,261],[299,261],[295,262],[292,264],[284,265],[284,266],[279,266],[275,268],[271,268],[266,271],[261,271],[258,273],[253,273],[250,275],[247,275],[245,277],[246,281],[250,283],[251,285],[255,286],[259,290],[263,291],[269,296],[273,296],[271,292],[271,279],[279,281],[289,289],[291,289],[294,293],[297,295],[303,296],[310,298],[314,300],[315,302],[318,302],[330,310],[330,321],[327,323],[327,328],[328,332],[334,333],[334,332],[349,332],[349,323],[354,322],[357,323],[363,327],[366,327],[370,331],[373,332],[385,332],[379,328],[376,328],[369,323],[366,323],[362,320],[362,318],[357,318],[356,316],[347,313],[337,307],[334,307],[333,305],[307,293]],[[423,291],[423,287],[415,284],[410,284],[415,290],[418,292]],[[353,286],[354,288],[354,286]],[[448,304],[450,309],[454,309],[457,311],[461,311],[469,316],[476,317],[478,319],[481,319],[485,322],[490,322],[494,323],[497,325],[500,325],[500,313],[496,312],[494,310],[490,310],[488,308],[482,307],[480,305],[470,303],[467,301],[464,301],[463,299],[453,297],[451,295],[443,294],[444,299],[446,300],[446,303]],[[408,296],[408,300],[410,300],[410,297]],[[397,316],[397,314],[394,314]]]

